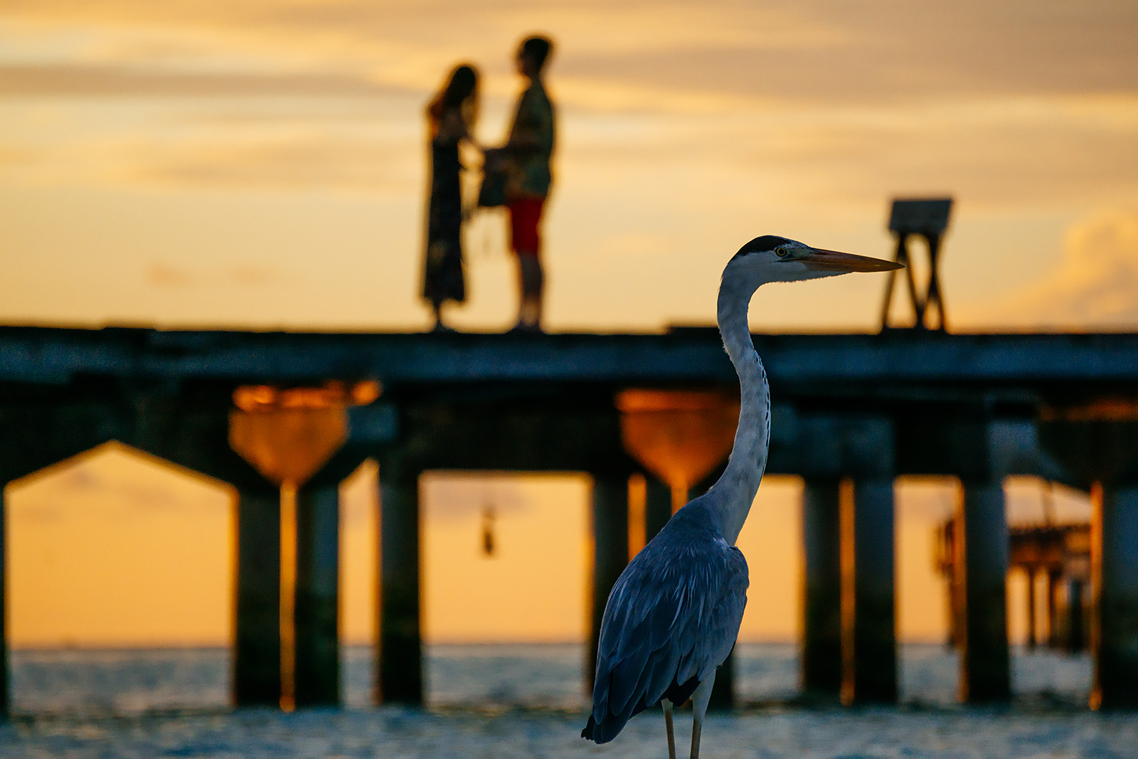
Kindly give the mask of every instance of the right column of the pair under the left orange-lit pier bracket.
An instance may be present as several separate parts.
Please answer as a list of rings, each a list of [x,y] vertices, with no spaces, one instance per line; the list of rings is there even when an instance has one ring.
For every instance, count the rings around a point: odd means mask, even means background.
[[[296,493],[296,706],[340,702],[340,495],[335,477]]]

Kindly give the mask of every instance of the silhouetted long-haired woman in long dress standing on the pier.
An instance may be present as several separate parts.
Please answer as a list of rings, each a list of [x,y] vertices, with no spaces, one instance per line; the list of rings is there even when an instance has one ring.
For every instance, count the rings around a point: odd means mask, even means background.
[[[430,131],[430,201],[427,209],[427,251],[423,298],[435,310],[435,329],[443,325],[443,304],[467,299],[462,272],[462,188],[459,143],[473,142],[478,112],[478,72],[457,66],[446,85],[427,106]]]

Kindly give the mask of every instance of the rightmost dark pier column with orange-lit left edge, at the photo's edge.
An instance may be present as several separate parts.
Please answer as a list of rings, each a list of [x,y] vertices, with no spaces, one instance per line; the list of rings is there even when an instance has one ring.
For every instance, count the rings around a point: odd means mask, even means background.
[[[1090,706],[1138,707],[1138,484],[1096,485],[1091,502]]]

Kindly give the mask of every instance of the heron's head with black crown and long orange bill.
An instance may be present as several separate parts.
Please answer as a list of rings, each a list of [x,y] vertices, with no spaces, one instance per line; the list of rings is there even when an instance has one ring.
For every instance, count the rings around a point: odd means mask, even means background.
[[[766,282],[798,282],[849,272],[888,272],[902,264],[851,253],[811,248],[775,234],[757,237],[739,249],[724,270],[724,279],[741,278],[758,287]]]

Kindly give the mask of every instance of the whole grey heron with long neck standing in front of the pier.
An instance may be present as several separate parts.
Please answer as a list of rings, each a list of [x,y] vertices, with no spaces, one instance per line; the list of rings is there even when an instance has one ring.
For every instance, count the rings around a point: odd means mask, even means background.
[[[768,282],[900,267],[772,234],[754,238],[727,262],[716,317],[739,374],[735,442],[718,481],[676,511],[612,586],[583,737],[607,743],[634,715],[660,703],[668,756],[676,759],[671,711],[690,698],[691,758],[699,758],[716,668],[735,645],[747,605],[747,561],[735,541],[759,489],[770,442],[769,385],[747,320],[751,296]]]

